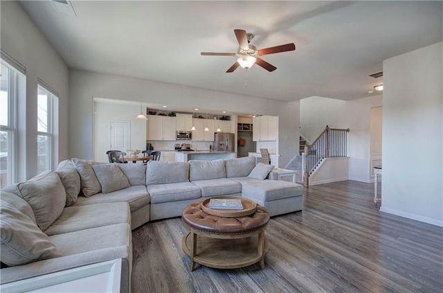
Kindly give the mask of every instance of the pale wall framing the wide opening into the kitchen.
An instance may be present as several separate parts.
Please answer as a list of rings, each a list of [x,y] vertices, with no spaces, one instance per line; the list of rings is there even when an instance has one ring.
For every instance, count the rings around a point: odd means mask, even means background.
[[[91,71],[71,70],[69,73],[69,108],[75,113],[69,118],[71,157],[93,158],[93,97],[158,103],[168,105],[171,109],[174,106],[200,107],[279,116],[280,166],[289,162],[293,154],[298,151],[298,101],[285,103]]]

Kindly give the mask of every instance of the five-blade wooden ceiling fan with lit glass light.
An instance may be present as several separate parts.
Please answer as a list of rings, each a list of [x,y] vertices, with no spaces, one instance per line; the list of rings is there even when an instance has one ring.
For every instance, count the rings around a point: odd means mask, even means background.
[[[237,62],[230,66],[226,73],[231,73],[237,69],[238,66],[242,66],[242,68],[248,70],[253,66],[253,64],[257,63],[259,66],[262,66],[267,71],[271,72],[277,69],[277,67],[269,64],[268,62],[262,60],[259,56],[294,51],[296,49],[296,45],[285,44],[280,46],[274,46],[270,48],[264,48],[257,50],[255,46],[250,45],[251,39],[253,39],[254,35],[252,33],[246,33],[246,30],[234,30],[235,37],[237,37],[237,42],[239,44],[239,48],[237,53],[213,53],[213,52],[201,52],[201,55],[204,56],[237,56]]]

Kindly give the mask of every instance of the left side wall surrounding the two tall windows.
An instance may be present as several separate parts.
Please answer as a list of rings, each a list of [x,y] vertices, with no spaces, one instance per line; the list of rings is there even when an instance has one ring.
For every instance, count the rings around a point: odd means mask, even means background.
[[[59,161],[68,158],[69,71],[64,61],[21,8],[18,1],[0,1],[1,49],[26,67],[26,100],[19,105],[19,177],[37,173],[37,78],[59,93]]]

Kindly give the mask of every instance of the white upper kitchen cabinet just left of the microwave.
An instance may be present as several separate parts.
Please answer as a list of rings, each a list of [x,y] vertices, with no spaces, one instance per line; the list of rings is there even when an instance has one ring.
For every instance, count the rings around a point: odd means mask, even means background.
[[[176,117],[148,116],[147,139],[150,141],[175,141]]]

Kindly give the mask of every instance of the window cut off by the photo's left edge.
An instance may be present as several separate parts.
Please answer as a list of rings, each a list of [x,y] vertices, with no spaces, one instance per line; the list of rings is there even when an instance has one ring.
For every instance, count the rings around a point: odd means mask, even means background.
[[[15,182],[17,150],[17,79],[14,67],[1,60],[0,69],[0,187]]]

